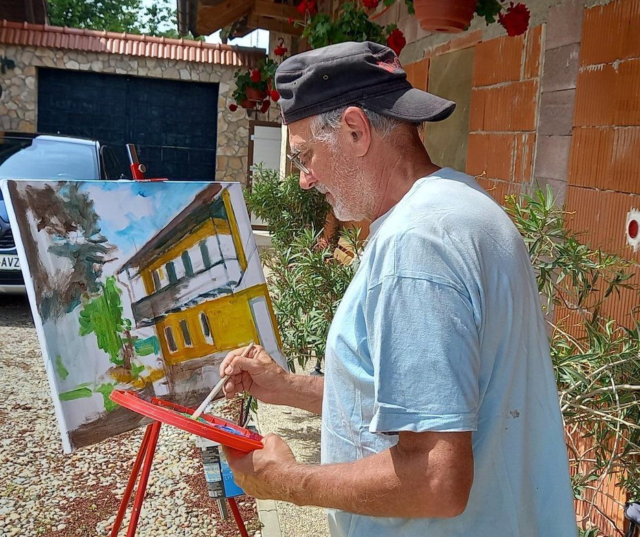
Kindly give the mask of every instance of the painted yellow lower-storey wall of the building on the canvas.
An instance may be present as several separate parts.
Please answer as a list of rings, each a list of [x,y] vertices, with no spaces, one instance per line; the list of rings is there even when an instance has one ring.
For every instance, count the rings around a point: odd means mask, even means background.
[[[266,284],[256,285],[233,295],[209,300],[188,310],[167,315],[156,325],[165,362],[176,364],[193,358],[201,358],[214,352],[236,349],[242,345],[248,345],[251,341],[258,343],[260,339],[258,330],[253,324],[249,301],[260,296],[265,297],[271,322],[273,326],[276,326]],[[201,312],[205,312],[207,319],[209,319],[209,326],[214,337],[213,345],[205,341],[200,322]],[[180,321],[183,319],[187,321],[192,347],[185,347],[180,328]],[[173,353],[169,351],[165,336],[165,328],[168,326],[172,329],[178,347],[178,350]],[[276,336],[278,343],[280,343],[279,334]]]

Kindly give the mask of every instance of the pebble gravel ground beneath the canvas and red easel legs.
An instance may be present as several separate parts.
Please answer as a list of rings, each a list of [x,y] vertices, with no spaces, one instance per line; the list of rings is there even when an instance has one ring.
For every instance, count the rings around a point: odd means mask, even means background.
[[[22,297],[0,296],[0,369],[0,535],[108,535],[144,429],[62,454],[40,346]],[[238,501],[249,534],[260,536],[255,501]],[[220,521],[207,496],[191,435],[172,426],[163,426],[159,437],[137,535],[239,536],[233,519]]]

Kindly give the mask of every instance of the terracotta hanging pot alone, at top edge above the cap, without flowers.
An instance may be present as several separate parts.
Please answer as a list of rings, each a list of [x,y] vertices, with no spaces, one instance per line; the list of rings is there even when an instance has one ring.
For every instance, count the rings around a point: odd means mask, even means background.
[[[413,0],[415,17],[423,30],[464,32],[470,25],[477,0]]]

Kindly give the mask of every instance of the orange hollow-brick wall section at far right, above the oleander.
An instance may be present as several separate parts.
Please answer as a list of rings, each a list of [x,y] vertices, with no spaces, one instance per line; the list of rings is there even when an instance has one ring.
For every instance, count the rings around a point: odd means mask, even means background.
[[[593,244],[640,262],[626,244],[626,216],[640,207],[640,0],[584,11],[569,157],[571,225]],[[640,283],[636,271],[635,283]],[[637,292],[604,313],[630,325]]]

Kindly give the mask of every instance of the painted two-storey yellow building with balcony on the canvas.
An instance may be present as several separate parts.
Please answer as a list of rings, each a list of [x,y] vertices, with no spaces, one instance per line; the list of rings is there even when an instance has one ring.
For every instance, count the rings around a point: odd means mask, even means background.
[[[162,382],[186,404],[216,382],[229,350],[259,343],[284,366],[251,226],[236,217],[233,190],[239,185],[205,187],[118,271],[136,328],[155,327]]]

